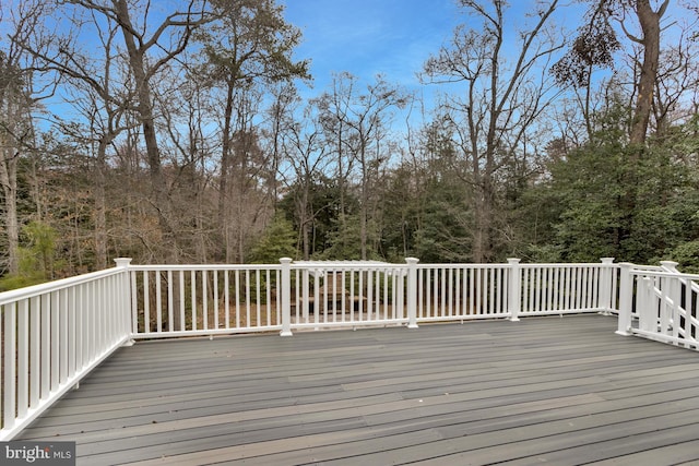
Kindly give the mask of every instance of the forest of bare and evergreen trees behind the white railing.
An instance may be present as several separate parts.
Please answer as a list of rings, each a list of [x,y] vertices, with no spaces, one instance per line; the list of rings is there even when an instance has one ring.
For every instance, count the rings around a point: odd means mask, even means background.
[[[429,103],[351,71],[307,97],[277,0],[2,2],[0,289],[118,256],[699,271],[699,7],[455,2]]]

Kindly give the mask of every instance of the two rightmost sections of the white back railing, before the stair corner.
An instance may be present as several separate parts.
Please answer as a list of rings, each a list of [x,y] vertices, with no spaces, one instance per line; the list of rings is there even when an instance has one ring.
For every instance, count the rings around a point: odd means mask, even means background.
[[[601,264],[460,264],[418,266],[418,322],[611,312],[618,266]]]

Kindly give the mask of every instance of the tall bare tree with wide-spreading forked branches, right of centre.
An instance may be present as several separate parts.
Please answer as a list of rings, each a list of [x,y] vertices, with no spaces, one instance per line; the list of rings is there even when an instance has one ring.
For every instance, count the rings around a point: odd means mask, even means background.
[[[446,118],[469,164],[464,181],[473,189],[475,262],[494,259],[498,174],[526,153],[530,128],[554,97],[546,70],[562,47],[547,28],[558,0],[536,2],[531,26],[518,31],[518,46],[506,55],[506,2],[460,0],[473,28],[459,26],[451,44],[425,63],[428,82],[458,82],[463,94],[447,97]],[[510,41],[511,44],[511,41]]]

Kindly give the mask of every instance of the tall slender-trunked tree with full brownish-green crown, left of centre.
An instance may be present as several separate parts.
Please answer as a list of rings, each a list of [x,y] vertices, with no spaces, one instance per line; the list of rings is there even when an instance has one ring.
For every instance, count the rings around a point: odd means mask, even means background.
[[[234,258],[226,240],[226,229],[235,222],[228,213],[230,203],[239,200],[230,198],[229,184],[236,160],[235,134],[241,134],[236,127],[240,121],[240,110],[236,99],[245,96],[252,87],[277,82],[291,82],[295,77],[308,77],[307,61],[294,61],[292,53],[300,40],[300,31],[286,23],[283,7],[274,0],[212,1],[216,21],[201,31],[198,39],[203,45],[203,74],[212,87],[223,92],[221,174],[218,189],[218,229],[227,244],[224,255],[230,262]],[[247,107],[250,109],[250,107]],[[250,120],[253,116],[245,116]],[[238,260],[241,259],[241,243],[237,242]]]

